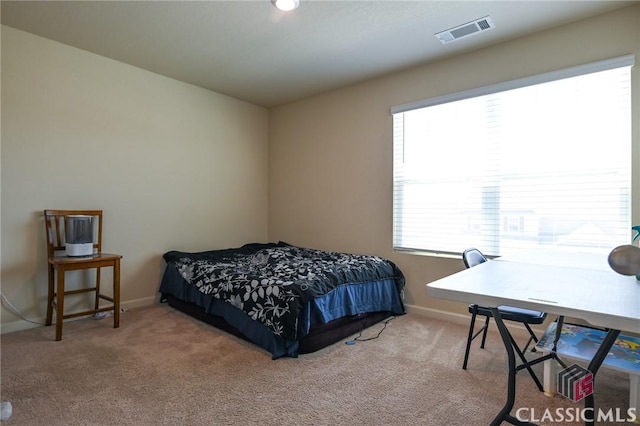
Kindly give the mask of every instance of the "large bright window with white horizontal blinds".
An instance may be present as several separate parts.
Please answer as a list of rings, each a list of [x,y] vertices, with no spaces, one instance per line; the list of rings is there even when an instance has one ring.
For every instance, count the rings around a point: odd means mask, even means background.
[[[396,250],[626,244],[632,55],[392,108]]]

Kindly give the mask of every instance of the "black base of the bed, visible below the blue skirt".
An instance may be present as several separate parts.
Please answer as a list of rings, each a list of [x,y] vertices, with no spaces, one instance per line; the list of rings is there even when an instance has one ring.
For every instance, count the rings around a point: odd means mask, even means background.
[[[224,318],[205,312],[205,310],[195,304],[180,300],[170,294],[164,295],[169,306],[184,312],[200,321],[233,334],[241,339],[250,341],[240,330],[230,325]],[[315,352],[319,349],[336,343],[352,334],[356,334],[367,327],[385,320],[393,314],[388,311],[369,312],[360,315],[353,315],[330,321],[326,324],[312,327],[309,334],[300,339],[300,354]]]

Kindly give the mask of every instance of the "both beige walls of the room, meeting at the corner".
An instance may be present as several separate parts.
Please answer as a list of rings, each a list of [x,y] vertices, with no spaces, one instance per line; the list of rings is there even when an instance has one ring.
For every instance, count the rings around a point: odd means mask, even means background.
[[[102,208],[125,305],[153,300],[167,250],[268,239],[388,257],[408,304],[464,314],[425,290],[459,259],[392,250],[391,106],[629,53],[640,5],[266,111],[3,26],[2,292],[42,320],[42,210]],[[25,325],[5,307],[1,324]]]

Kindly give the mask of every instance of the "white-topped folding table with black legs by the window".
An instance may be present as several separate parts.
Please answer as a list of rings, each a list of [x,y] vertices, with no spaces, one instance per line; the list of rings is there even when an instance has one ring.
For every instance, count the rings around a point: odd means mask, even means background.
[[[611,329],[608,341],[589,366],[595,376],[620,330],[640,333],[640,282],[611,270],[607,255],[528,251],[429,283],[427,293],[488,307],[510,305],[580,318],[594,326]],[[502,421],[520,424],[509,414],[515,399],[513,348],[497,309],[493,313],[509,360],[507,402],[493,424]],[[593,395],[586,398],[585,404],[593,408]]]

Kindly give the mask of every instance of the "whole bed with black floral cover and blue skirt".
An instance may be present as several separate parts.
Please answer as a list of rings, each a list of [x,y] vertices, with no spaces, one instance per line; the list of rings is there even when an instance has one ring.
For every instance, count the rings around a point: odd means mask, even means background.
[[[377,256],[278,242],[169,251],[164,260],[163,302],[273,359],[315,352],[405,313],[404,276]]]

